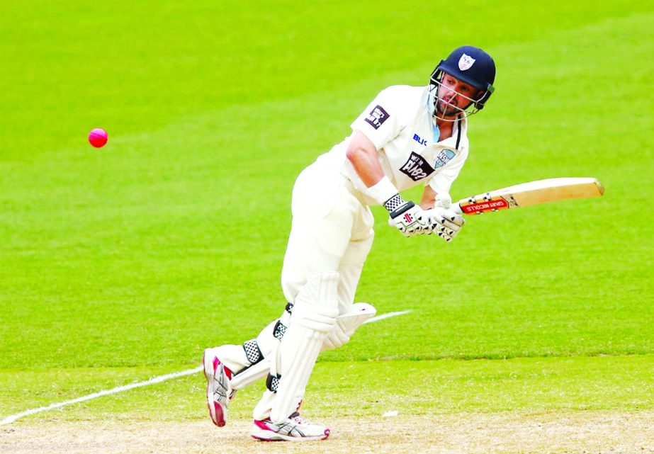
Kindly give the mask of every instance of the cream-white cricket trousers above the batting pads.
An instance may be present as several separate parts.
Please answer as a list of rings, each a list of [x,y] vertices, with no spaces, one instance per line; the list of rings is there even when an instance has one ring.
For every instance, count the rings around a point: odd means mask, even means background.
[[[373,244],[373,214],[352,183],[320,160],[300,173],[293,186],[293,224],[281,272],[288,302],[327,271],[340,276],[339,312],[351,309],[361,269]]]

